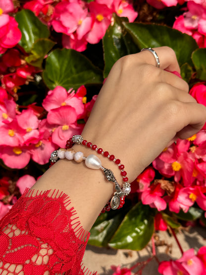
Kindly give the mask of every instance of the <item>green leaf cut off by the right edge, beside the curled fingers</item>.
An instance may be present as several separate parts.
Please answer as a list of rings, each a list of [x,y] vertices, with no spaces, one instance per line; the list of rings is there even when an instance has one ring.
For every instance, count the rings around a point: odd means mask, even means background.
[[[197,49],[192,60],[197,71],[197,78],[206,80],[206,49]]]

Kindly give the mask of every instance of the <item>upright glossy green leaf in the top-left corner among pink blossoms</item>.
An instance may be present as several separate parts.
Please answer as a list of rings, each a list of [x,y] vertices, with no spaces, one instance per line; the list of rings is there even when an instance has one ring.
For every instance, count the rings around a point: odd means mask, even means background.
[[[48,38],[50,31],[29,9],[22,9],[16,13],[16,21],[21,31],[22,37],[19,45],[29,53],[33,44],[40,38]]]

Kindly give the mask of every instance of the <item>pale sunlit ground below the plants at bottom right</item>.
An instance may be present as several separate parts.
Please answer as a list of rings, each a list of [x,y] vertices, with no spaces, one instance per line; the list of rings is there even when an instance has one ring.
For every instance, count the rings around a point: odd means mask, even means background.
[[[178,259],[181,257],[181,252],[174,240],[167,231],[161,231],[158,234],[159,242],[164,242],[165,245],[156,247],[156,256],[159,261]],[[189,232],[184,231],[177,234],[178,240],[184,251],[189,248],[194,248],[197,252],[202,246],[206,246],[206,228],[198,227],[190,228]],[[166,245],[167,244],[167,245]],[[171,246],[171,247],[170,247]],[[171,250],[171,253],[168,252]],[[131,250],[114,250],[111,248],[100,248],[95,246],[87,246],[83,262],[91,271],[95,270],[99,275],[112,275],[111,265],[121,267],[131,267],[137,262],[142,262],[152,256],[152,244],[148,244],[141,251]],[[152,260],[144,269],[142,275],[158,275],[158,264],[156,260]],[[137,271],[137,270],[135,270]]]

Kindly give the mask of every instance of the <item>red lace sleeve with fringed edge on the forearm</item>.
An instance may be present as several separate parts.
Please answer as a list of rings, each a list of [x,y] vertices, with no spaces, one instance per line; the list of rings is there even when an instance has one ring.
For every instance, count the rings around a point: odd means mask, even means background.
[[[25,190],[0,221],[0,274],[94,274],[81,263],[90,233],[70,204],[63,192]]]

